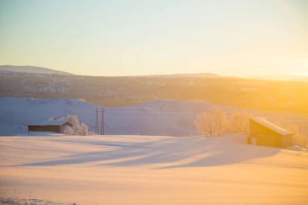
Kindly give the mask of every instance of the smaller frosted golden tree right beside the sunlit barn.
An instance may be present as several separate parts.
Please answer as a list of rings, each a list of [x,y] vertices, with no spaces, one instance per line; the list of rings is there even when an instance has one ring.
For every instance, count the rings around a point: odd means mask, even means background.
[[[249,117],[252,117],[251,113],[234,112],[230,118],[230,127],[233,131],[248,132],[249,131]]]

